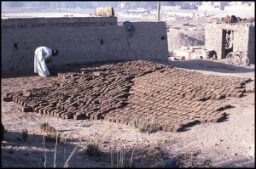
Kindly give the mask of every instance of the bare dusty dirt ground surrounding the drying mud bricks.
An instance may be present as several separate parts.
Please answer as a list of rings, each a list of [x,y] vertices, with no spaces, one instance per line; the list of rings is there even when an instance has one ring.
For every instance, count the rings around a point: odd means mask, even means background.
[[[170,61],[168,64],[209,76],[245,76],[254,80],[254,66],[240,68],[225,65],[223,60],[195,59]],[[58,78],[61,77],[31,75],[2,78],[2,96],[47,87]],[[254,95],[246,93],[241,98],[225,99],[225,103],[233,105],[233,108],[225,110],[228,115],[225,121],[196,124],[183,132],[153,133],[139,132],[127,125],[103,120],[74,121],[22,112],[20,104],[2,101],[1,119],[6,132],[1,144],[1,167],[44,167],[45,157],[46,166],[55,163],[62,167],[76,146],[78,149],[69,161],[69,167],[117,167],[120,162],[116,159],[122,155],[125,155],[123,166],[129,166],[131,162],[134,167],[166,167],[174,157],[183,158],[181,166],[186,162],[187,166],[195,166],[196,163],[207,167],[208,161],[215,167],[255,167]],[[66,142],[59,143],[56,150],[55,142],[45,142],[44,151],[45,133],[38,127],[40,121],[47,121],[59,130]],[[28,132],[26,141],[21,139],[24,129]],[[99,145],[102,154],[95,157],[85,153],[92,143]]]

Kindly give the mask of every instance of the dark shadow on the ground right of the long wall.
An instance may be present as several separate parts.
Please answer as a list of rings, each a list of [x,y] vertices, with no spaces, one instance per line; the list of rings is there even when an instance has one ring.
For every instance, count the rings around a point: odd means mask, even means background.
[[[191,59],[184,61],[169,61],[170,65],[177,68],[191,69],[191,70],[205,70],[214,71],[218,73],[253,73],[254,68],[239,67],[236,65],[228,65],[220,61],[213,61],[211,59]]]

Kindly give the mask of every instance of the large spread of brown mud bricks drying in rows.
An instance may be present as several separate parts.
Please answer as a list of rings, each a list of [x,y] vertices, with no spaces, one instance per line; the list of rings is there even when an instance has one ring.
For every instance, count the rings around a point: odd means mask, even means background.
[[[143,60],[65,69],[51,87],[6,93],[3,101],[64,119],[124,124],[150,119],[160,130],[178,132],[197,121],[221,121],[231,106],[221,99],[254,92],[245,89],[249,78],[203,75]]]

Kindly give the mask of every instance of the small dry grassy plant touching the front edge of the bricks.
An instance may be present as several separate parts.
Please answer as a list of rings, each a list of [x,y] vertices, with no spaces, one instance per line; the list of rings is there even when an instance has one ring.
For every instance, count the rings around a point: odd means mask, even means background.
[[[153,122],[149,120],[143,120],[140,118],[136,118],[130,121],[129,125],[134,128],[138,128],[140,132],[156,132],[156,127]]]

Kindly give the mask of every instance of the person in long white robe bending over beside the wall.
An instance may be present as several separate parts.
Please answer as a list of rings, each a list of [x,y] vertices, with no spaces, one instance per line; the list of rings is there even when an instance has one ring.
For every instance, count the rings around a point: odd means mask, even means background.
[[[46,64],[51,62],[52,56],[57,54],[59,54],[57,49],[51,49],[47,47],[36,48],[34,56],[34,72],[38,73],[39,76],[50,76]]]

